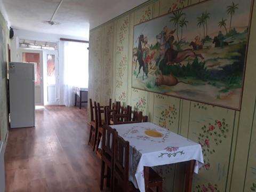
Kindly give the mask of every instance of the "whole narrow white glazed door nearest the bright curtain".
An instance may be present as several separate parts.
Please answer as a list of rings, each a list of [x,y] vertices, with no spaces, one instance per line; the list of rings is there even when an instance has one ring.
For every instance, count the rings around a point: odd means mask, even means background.
[[[57,51],[44,51],[44,104],[60,105]]]

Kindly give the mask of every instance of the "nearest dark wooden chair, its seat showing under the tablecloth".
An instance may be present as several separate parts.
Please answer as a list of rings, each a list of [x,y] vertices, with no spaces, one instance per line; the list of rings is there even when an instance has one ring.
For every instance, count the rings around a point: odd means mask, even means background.
[[[135,189],[132,182],[129,181],[129,141],[125,141],[119,135],[115,136],[114,141],[113,189],[114,191],[124,192],[138,191],[138,189]],[[149,174],[146,175],[145,180],[146,191],[148,191],[148,188],[156,187],[157,192],[162,192],[163,179],[153,169],[150,167],[148,167],[148,169]],[[118,187],[122,187],[122,189]]]

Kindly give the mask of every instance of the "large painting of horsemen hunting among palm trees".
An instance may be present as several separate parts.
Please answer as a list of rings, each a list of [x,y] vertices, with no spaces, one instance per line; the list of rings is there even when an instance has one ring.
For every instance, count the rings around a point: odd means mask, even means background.
[[[132,87],[240,110],[253,0],[208,0],[134,26]]]

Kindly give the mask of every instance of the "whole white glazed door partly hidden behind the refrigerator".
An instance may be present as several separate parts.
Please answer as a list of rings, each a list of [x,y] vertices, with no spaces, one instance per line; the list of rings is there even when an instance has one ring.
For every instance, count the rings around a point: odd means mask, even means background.
[[[35,105],[44,105],[43,51],[19,49],[19,60],[35,64]]]

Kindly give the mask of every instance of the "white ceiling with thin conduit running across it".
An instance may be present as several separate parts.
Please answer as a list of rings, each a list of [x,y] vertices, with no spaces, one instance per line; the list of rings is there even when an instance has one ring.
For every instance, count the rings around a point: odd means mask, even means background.
[[[61,0],[0,0],[14,29],[69,35],[89,39],[90,28],[117,17],[147,0],[64,0],[53,21],[51,17]]]

